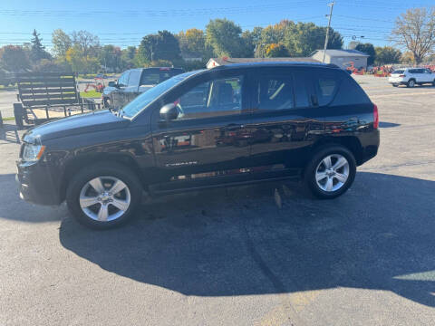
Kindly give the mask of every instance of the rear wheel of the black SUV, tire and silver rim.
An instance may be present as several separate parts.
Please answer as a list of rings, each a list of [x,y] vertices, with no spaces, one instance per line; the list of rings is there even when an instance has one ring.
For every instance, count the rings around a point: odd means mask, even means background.
[[[330,158],[330,169],[324,163],[325,158]],[[339,161],[344,165],[334,169],[333,166]],[[306,165],[304,183],[314,197],[332,199],[343,195],[351,187],[355,174],[356,161],[353,153],[341,145],[326,145],[318,149]],[[322,178],[317,181],[317,177]]]

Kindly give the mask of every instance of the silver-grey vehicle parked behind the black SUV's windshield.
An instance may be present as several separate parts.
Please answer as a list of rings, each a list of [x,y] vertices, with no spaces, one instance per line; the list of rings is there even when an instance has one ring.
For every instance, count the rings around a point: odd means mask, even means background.
[[[102,103],[106,108],[120,108],[144,91],[160,82],[184,72],[181,68],[141,68],[122,72],[116,82],[109,82],[102,91]]]

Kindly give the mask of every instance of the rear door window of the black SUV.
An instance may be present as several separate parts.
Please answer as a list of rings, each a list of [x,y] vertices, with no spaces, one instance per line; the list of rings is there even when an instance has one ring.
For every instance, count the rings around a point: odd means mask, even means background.
[[[292,75],[265,76],[258,82],[256,110],[293,109]]]

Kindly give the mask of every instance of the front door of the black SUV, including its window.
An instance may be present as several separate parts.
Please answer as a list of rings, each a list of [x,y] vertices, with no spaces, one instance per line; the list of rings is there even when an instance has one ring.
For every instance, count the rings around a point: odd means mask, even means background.
[[[169,96],[178,117],[151,122],[156,166],[168,181],[223,176],[247,165],[246,85],[243,72],[208,72]]]

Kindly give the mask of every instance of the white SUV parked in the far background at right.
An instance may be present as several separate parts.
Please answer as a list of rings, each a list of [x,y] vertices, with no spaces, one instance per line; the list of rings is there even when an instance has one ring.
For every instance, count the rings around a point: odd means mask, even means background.
[[[414,87],[416,84],[424,83],[431,83],[435,86],[435,73],[425,68],[403,68],[392,72],[388,82],[394,87],[399,85]]]

